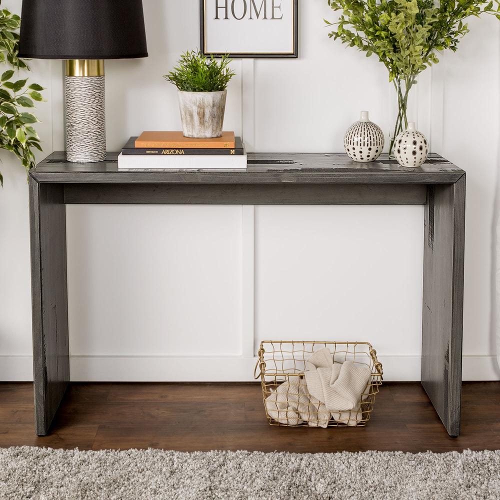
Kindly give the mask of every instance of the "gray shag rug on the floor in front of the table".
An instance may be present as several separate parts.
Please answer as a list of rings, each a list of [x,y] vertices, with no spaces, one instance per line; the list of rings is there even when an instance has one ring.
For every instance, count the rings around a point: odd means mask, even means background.
[[[0,498],[500,498],[500,451],[178,452],[0,449]]]

